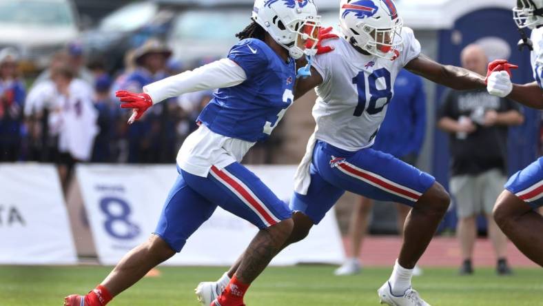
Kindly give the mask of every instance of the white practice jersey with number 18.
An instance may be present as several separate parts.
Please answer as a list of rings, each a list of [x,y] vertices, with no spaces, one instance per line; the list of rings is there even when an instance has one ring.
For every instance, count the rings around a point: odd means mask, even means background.
[[[393,96],[398,72],[420,54],[420,43],[410,28],[402,28],[403,44],[397,59],[361,54],[345,39],[329,40],[334,51],[313,63],[323,82],[316,88],[313,108],[316,139],[343,150],[357,151],[373,144]]]

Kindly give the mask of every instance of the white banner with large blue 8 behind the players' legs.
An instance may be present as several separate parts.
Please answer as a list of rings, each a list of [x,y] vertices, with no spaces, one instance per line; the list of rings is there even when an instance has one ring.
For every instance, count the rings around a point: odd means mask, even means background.
[[[288,202],[295,166],[250,166],[262,181]],[[99,260],[116,264],[154,231],[163,203],[177,177],[175,165],[79,165],[81,187]],[[231,265],[258,232],[251,223],[220,207],[189,238],[169,265]],[[332,210],[304,241],[283,250],[272,264],[341,263],[344,258]]]

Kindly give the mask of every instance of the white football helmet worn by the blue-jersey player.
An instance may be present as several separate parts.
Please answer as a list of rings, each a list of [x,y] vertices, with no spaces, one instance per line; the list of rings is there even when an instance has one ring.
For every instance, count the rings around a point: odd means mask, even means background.
[[[313,0],[256,0],[252,19],[293,59],[316,54],[320,16]]]

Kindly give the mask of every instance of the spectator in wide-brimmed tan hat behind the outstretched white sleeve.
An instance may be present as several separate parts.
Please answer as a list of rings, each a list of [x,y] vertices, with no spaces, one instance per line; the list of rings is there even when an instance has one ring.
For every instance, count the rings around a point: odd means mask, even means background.
[[[141,92],[143,86],[164,79],[172,51],[150,39],[134,51],[136,68],[123,76],[112,90]],[[166,163],[175,158],[175,125],[170,117],[176,103],[161,103],[128,128],[129,163]],[[130,114],[129,114],[130,116]]]

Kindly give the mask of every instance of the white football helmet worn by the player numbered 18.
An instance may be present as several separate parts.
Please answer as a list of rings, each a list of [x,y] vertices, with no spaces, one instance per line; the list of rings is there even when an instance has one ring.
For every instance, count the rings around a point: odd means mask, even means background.
[[[341,0],[340,27],[345,39],[383,59],[395,59],[402,45],[403,21],[392,0]]]

